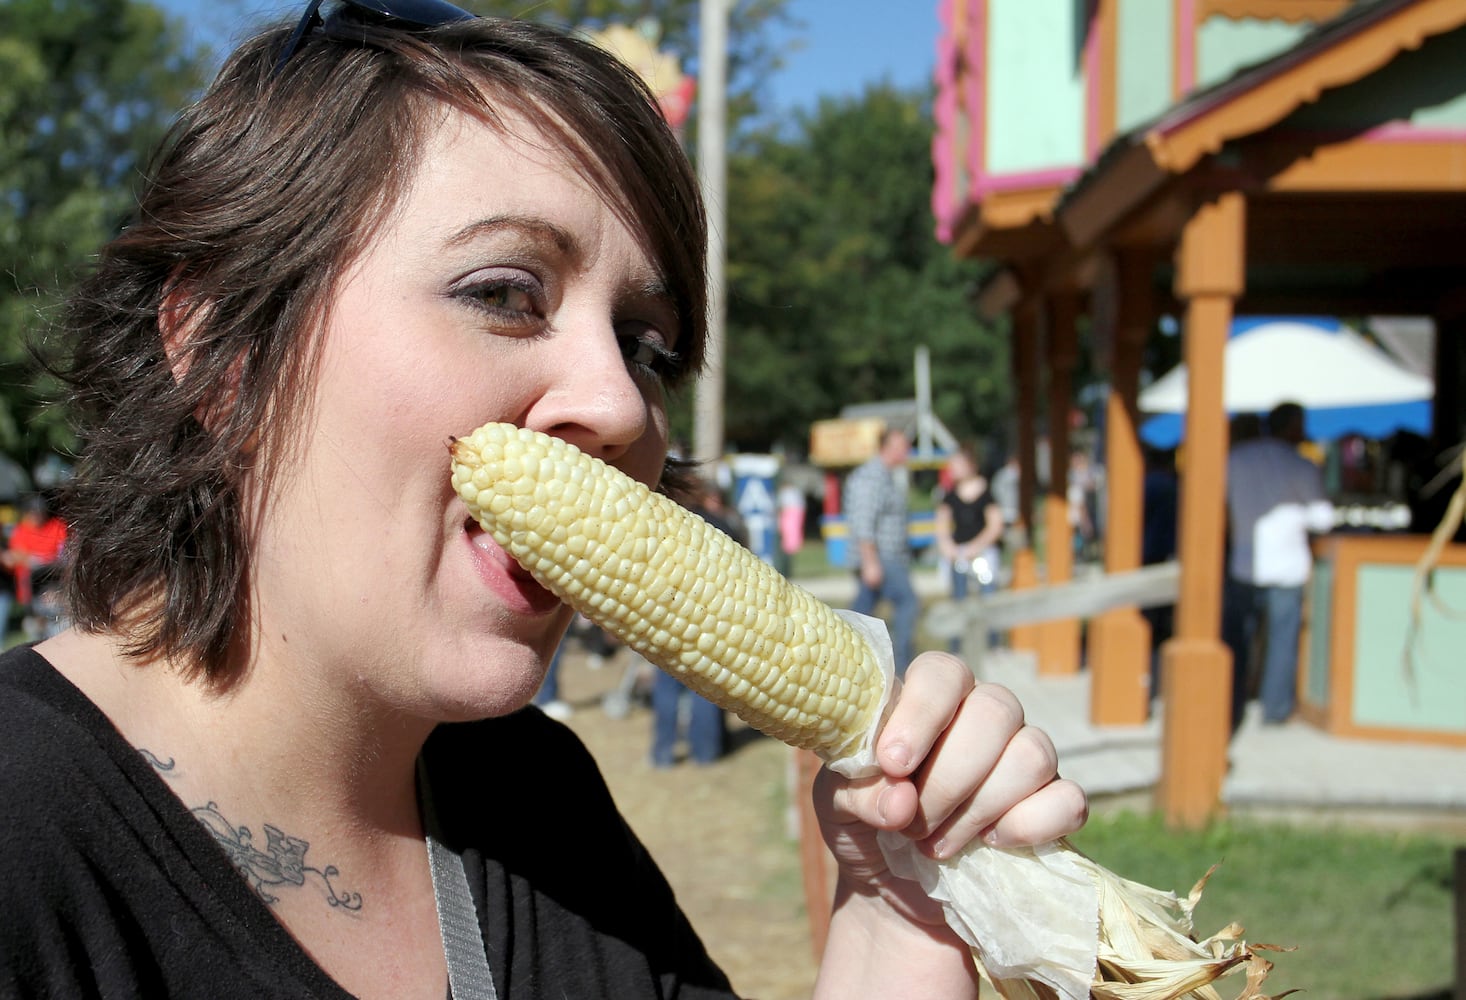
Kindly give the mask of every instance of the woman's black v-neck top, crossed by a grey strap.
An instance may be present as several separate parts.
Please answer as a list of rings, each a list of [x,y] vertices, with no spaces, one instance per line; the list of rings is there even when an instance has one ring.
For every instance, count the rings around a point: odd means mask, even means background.
[[[569,729],[523,710],[424,755],[503,1000],[733,996]],[[29,648],[0,657],[0,996],[349,996]]]

